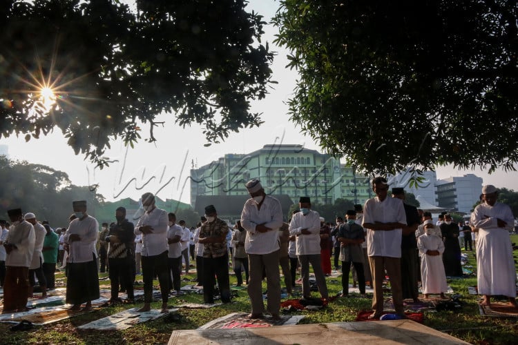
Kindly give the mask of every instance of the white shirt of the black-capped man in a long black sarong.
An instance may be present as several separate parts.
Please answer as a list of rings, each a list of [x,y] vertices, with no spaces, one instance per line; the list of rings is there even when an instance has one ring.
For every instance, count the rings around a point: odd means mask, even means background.
[[[68,241],[72,234],[79,235],[79,241]],[[99,237],[99,223],[97,219],[88,215],[85,219],[79,218],[70,221],[68,229],[65,233],[65,243],[68,243],[68,262],[79,264],[81,262],[90,262],[93,256],[97,257],[95,244]]]

